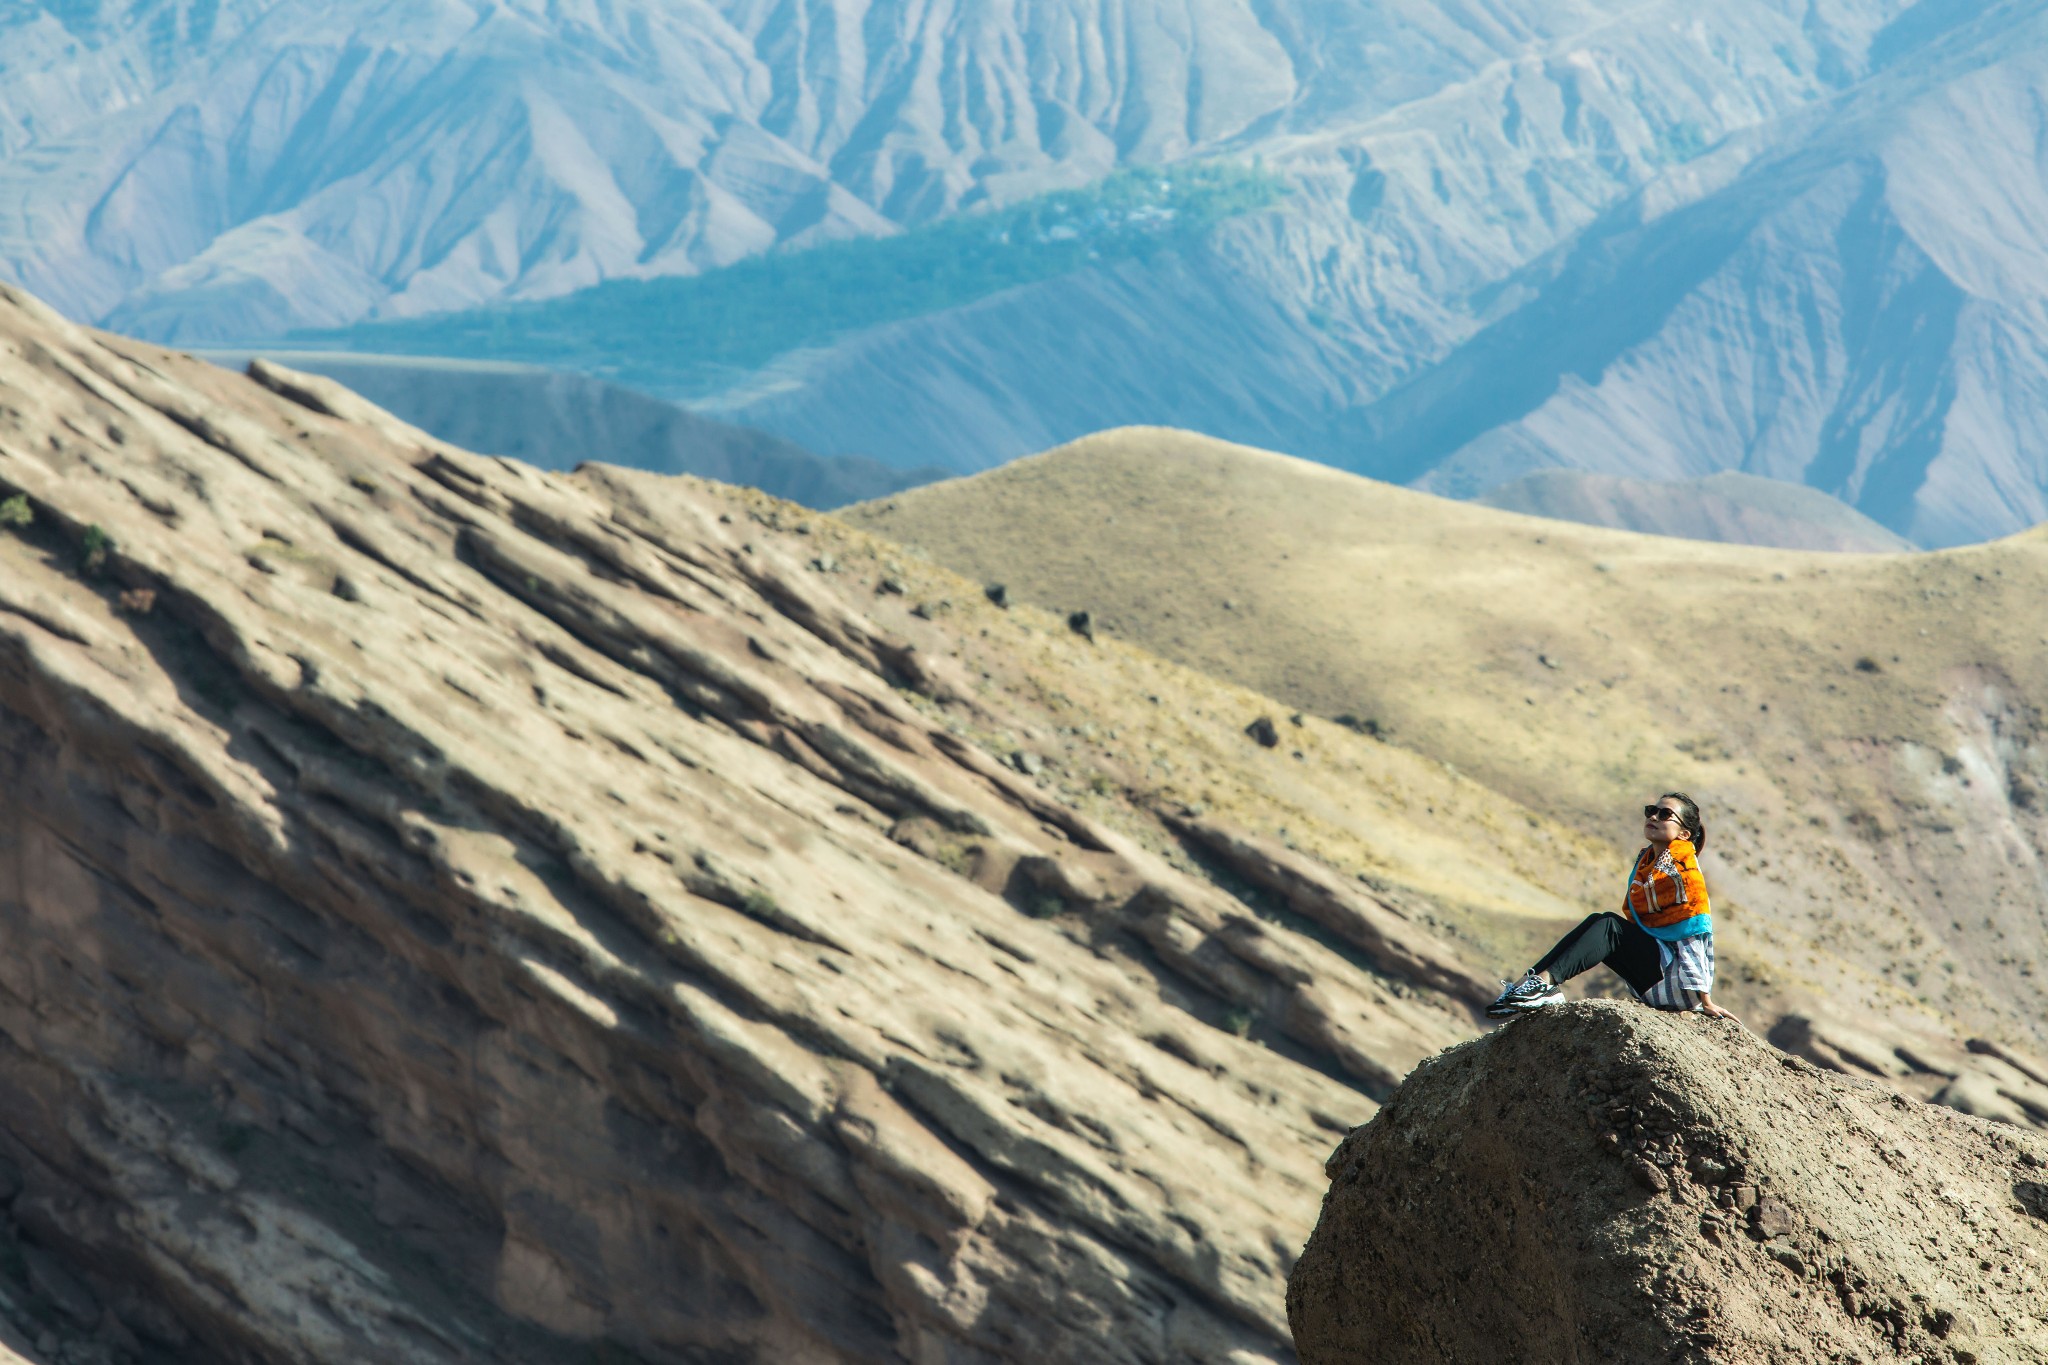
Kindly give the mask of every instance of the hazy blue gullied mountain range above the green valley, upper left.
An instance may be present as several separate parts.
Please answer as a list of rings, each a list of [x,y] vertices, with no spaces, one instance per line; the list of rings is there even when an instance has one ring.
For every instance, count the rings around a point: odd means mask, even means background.
[[[1434,90],[1528,27],[1423,0],[1264,10],[6,6],[0,260],[74,315],[172,340],[547,297],[1178,160],[1333,102],[1323,61],[1362,98]]]

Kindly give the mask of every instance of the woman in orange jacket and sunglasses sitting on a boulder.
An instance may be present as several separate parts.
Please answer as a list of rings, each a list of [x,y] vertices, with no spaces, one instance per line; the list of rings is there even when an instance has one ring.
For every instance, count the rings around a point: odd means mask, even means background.
[[[1587,915],[1522,980],[1501,982],[1507,988],[1487,1005],[1489,1015],[1507,1019],[1561,1001],[1559,986],[1606,962],[1645,1005],[1735,1017],[1710,995],[1714,917],[1700,876],[1700,806],[1683,792],[1665,792],[1655,806],[1642,806],[1642,837],[1649,845],[1636,853],[1622,902],[1628,915]]]

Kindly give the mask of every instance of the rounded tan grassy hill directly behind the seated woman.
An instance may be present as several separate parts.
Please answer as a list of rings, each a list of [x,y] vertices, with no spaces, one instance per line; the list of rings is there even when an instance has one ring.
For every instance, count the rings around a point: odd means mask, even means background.
[[[1692,792],[1729,988],[1761,1025],[2025,1111],[2023,1087],[1952,1083],[1960,1064],[1907,1036],[2048,1040],[2048,534],[1870,557],[1686,542],[1169,430],[844,516],[1563,823],[1597,847],[1575,868],[1587,902],[1612,898],[1630,810]],[[1559,855],[1513,821],[1444,829],[1501,872]]]

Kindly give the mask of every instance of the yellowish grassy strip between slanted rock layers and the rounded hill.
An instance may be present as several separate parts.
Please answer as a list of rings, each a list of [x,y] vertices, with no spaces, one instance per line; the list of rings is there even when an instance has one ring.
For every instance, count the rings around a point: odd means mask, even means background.
[[[831,516],[707,487],[795,532],[879,624],[958,661],[979,704],[905,700],[1059,802],[1176,866],[1223,874],[1260,911],[1280,900],[1229,874],[1190,831],[1253,831],[1315,860],[1450,933],[1481,974],[1524,960],[1606,886],[1597,839],[1454,765],[1124,641],[1087,639],[1065,614],[995,606],[983,583]],[[1260,718],[1276,726],[1272,749],[1245,735]],[[1501,868],[1489,849],[1505,839],[1546,855]]]

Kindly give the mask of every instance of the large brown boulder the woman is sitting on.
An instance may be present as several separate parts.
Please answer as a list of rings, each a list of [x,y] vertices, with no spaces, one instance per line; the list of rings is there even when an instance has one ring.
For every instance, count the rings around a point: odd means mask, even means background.
[[[2040,1134],[1636,1005],[1415,1068],[1331,1154],[1305,1365],[2038,1361]]]

